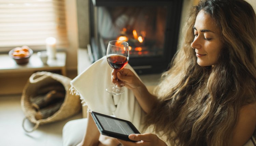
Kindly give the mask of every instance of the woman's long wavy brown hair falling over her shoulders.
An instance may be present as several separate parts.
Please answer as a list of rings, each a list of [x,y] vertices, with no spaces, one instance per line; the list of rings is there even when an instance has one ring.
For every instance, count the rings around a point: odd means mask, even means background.
[[[203,10],[221,30],[217,63],[197,64],[193,26]],[[244,0],[201,0],[184,27],[185,41],[155,90],[146,126],[178,146],[228,146],[243,105],[256,99],[256,16]]]

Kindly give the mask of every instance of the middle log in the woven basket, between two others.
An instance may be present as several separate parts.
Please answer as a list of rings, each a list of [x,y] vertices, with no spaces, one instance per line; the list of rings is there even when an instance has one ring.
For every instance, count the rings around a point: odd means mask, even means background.
[[[31,105],[34,109],[40,110],[48,105],[56,103],[58,101],[63,101],[65,98],[65,93],[57,92],[56,90],[50,91],[45,96],[37,96],[34,97],[33,102]]]

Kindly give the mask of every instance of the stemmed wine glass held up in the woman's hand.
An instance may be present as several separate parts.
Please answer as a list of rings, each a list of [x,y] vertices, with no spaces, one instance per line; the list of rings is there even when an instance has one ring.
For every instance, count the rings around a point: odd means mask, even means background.
[[[106,52],[106,57],[109,65],[116,71],[122,70],[129,60],[129,45],[125,41],[112,40],[108,44],[108,49]],[[118,80],[116,78],[116,80]],[[117,85],[112,85],[106,88],[109,93],[118,95],[122,94],[125,89],[123,87],[118,87]]]

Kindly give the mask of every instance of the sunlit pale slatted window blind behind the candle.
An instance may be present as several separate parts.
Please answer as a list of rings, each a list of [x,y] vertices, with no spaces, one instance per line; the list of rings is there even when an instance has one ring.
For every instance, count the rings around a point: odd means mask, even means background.
[[[0,51],[28,45],[45,49],[55,37],[57,48],[67,47],[64,0],[0,0]]]

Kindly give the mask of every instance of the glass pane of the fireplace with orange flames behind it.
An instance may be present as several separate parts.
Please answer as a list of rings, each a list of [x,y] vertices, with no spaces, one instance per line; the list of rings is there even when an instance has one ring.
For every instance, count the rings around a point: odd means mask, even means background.
[[[98,35],[104,48],[110,40],[122,40],[129,43],[131,58],[163,55],[167,16],[165,6],[101,6],[97,9],[97,15]]]

